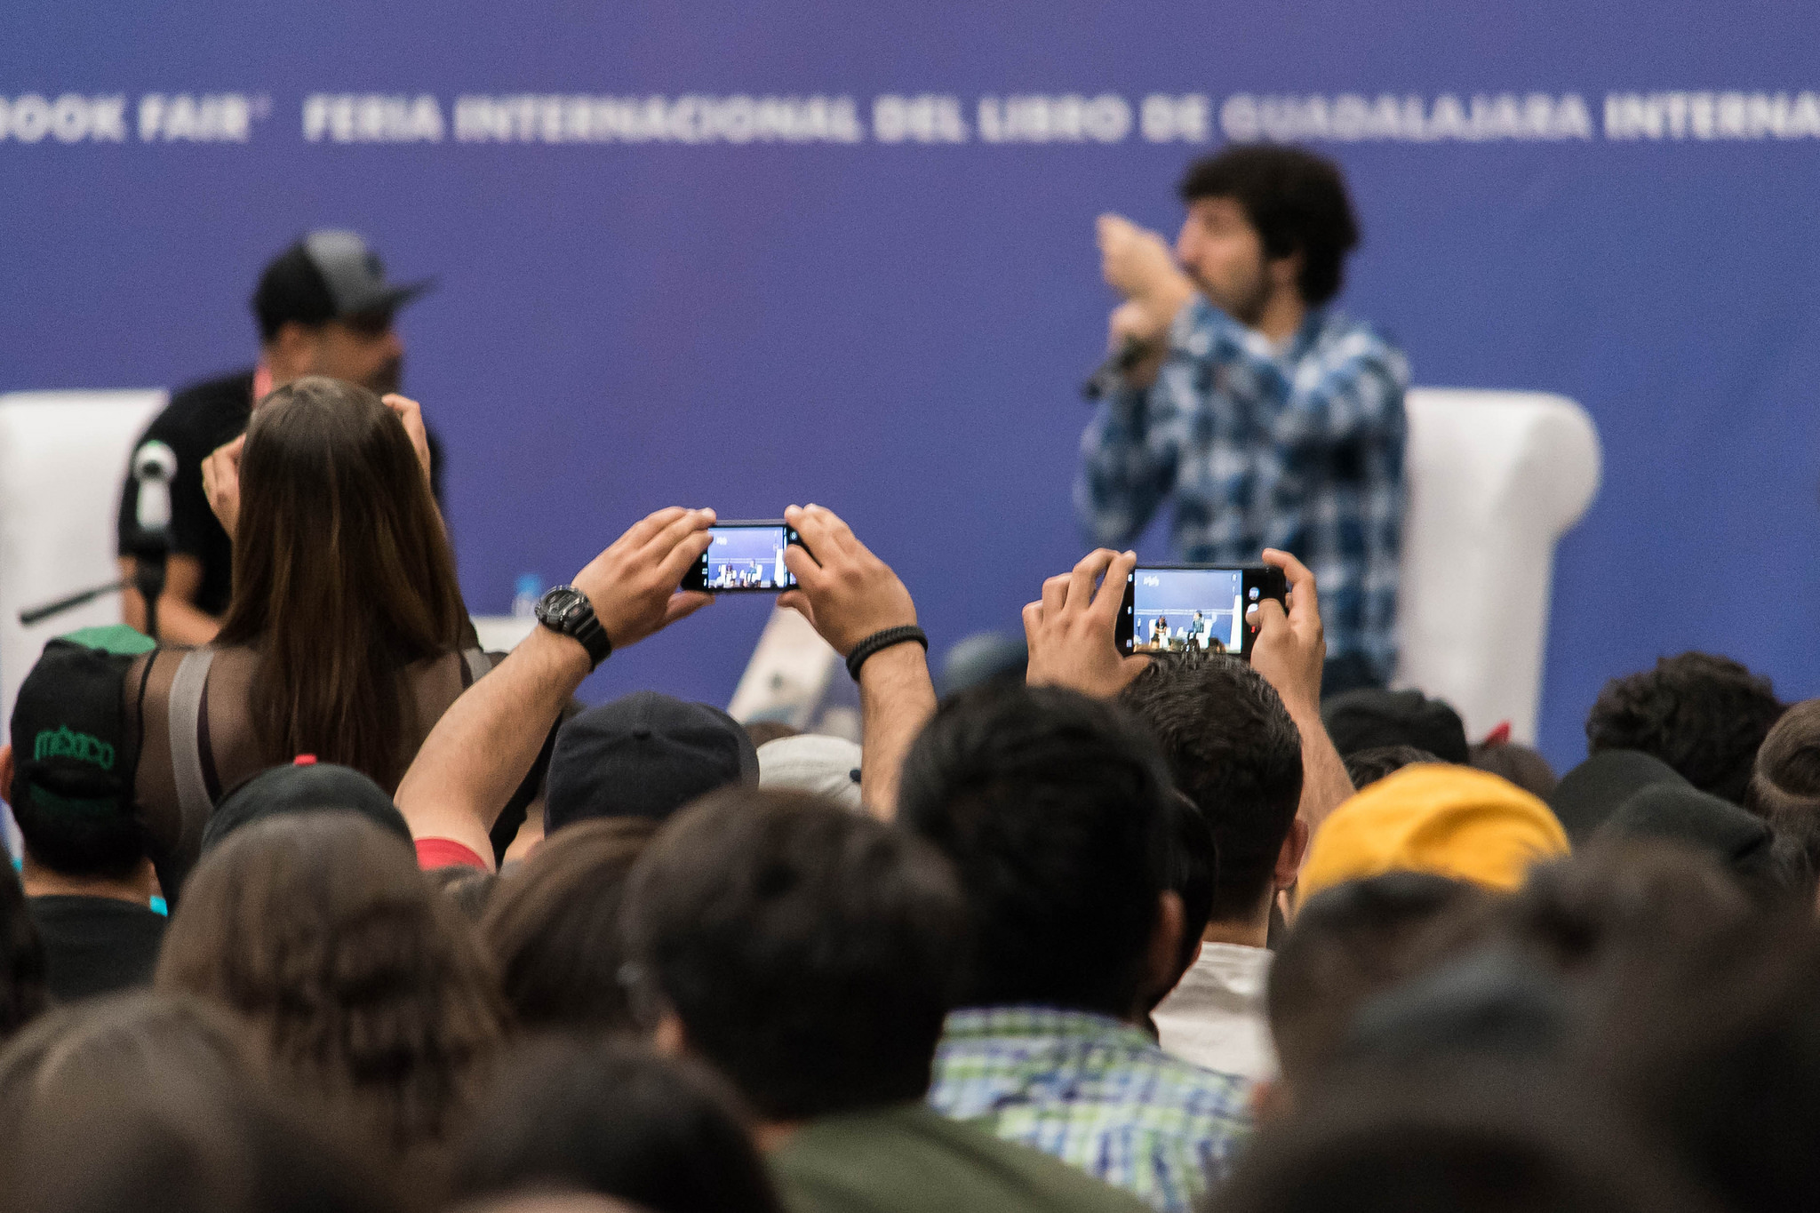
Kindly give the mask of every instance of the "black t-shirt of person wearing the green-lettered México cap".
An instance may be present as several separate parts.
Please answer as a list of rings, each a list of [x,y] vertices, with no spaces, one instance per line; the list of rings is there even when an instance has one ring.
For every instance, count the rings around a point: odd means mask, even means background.
[[[44,940],[51,998],[75,1002],[149,986],[164,942],[164,915],[116,897],[29,897]]]

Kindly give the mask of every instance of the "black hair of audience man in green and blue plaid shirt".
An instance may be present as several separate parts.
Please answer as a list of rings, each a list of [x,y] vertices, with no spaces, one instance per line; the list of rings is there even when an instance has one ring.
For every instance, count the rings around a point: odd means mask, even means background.
[[[1154,995],[1168,793],[1156,742],[1114,704],[985,686],[937,706],[905,757],[897,822],[961,877],[974,929],[956,1006],[1123,1018]]]

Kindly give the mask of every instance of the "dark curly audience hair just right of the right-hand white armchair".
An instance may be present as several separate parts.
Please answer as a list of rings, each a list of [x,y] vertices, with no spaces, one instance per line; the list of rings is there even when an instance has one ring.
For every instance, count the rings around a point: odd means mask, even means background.
[[[1587,715],[1587,747],[1642,749],[1700,791],[1742,804],[1782,713],[1769,678],[1727,657],[1682,653],[1607,682]]]

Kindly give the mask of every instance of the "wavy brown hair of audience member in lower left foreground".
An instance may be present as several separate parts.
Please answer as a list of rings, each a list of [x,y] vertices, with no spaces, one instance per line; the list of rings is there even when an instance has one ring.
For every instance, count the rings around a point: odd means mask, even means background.
[[[349,813],[257,822],[206,855],[153,984],[238,1013],[280,1086],[399,1155],[446,1140],[506,1020],[473,927]]]

